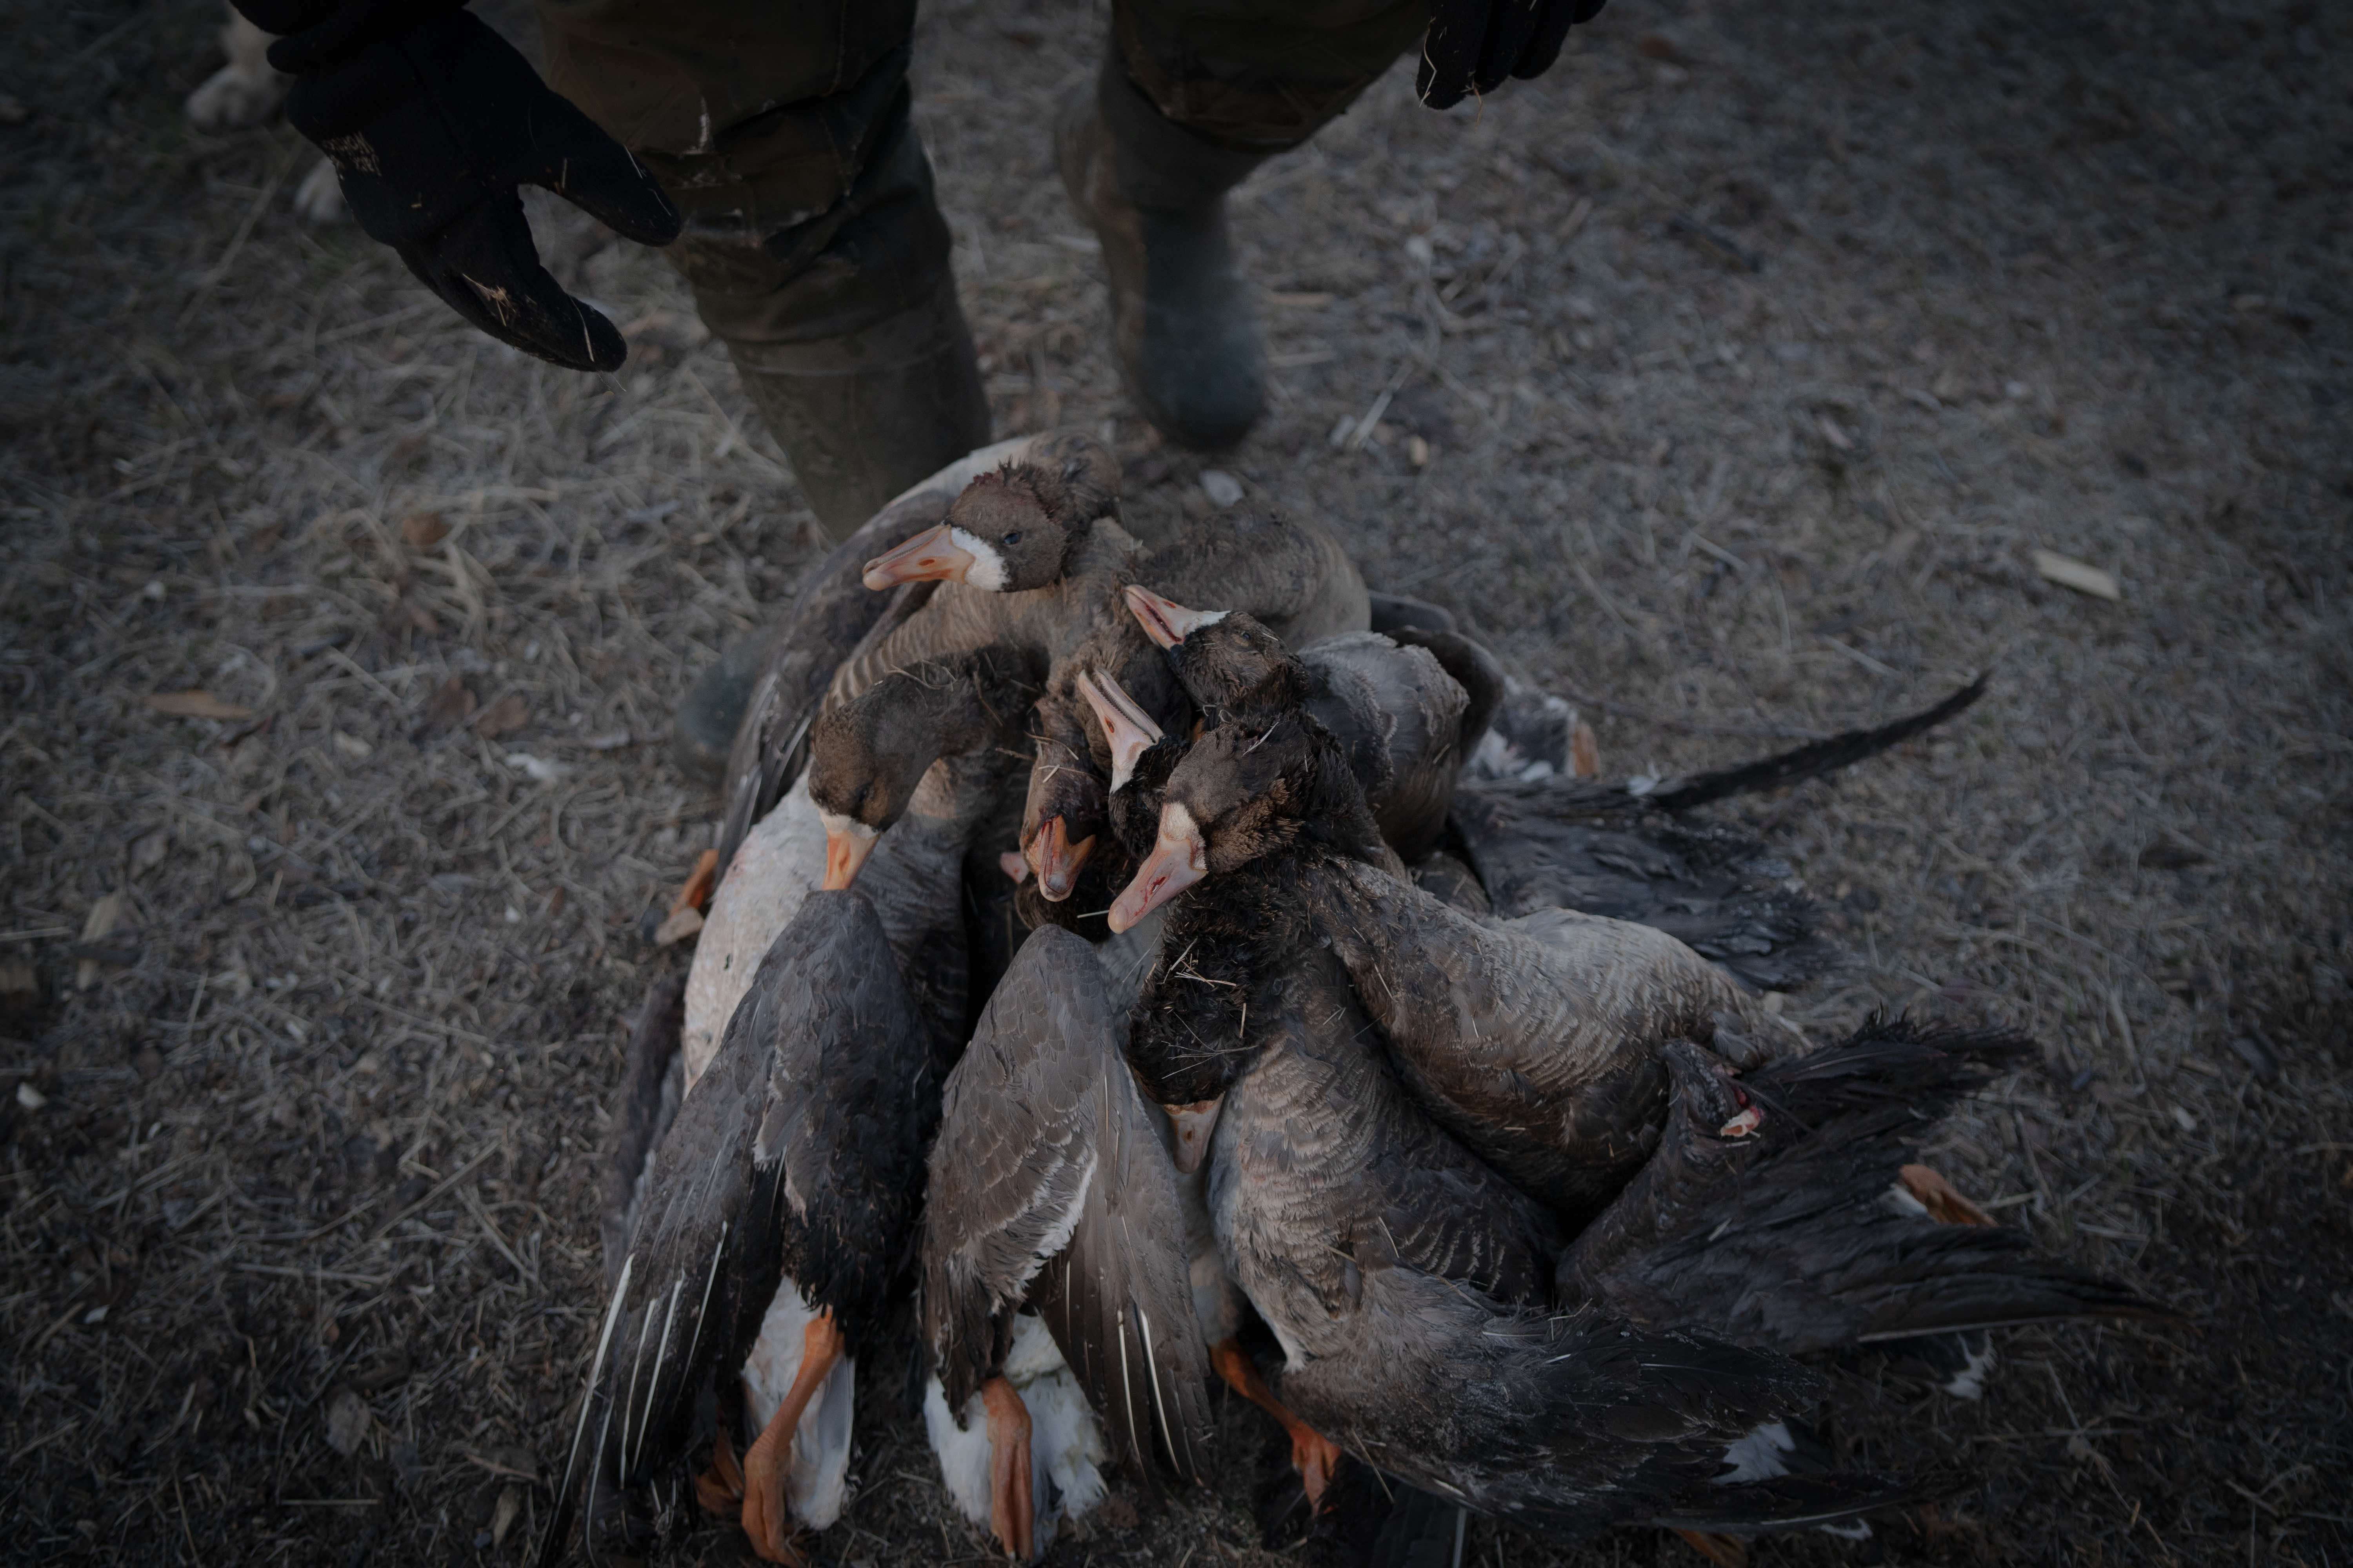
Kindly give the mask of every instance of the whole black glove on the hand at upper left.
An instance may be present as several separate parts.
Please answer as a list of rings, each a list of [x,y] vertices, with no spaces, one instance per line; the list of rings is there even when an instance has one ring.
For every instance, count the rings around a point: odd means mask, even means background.
[[[654,176],[548,92],[464,0],[240,0],[287,33],[287,122],[334,162],[372,237],[468,322],[565,369],[616,369],[628,343],[565,294],[532,244],[515,186],[546,186],[640,244],[678,237]]]

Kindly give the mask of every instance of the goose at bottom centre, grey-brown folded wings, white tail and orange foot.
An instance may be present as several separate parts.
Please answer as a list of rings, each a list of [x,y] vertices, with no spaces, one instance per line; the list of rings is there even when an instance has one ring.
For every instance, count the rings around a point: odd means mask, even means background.
[[[1176,1171],[1120,1037],[1094,950],[1038,931],[948,1077],[932,1147],[925,1415],[948,1493],[1021,1561],[1052,1540],[1047,1469],[1101,1453],[1096,1420],[1146,1479],[1155,1465],[1198,1479],[1205,1458]],[[1054,1387],[1024,1399],[1064,1359],[1092,1413]],[[1054,1481],[1071,1512],[1101,1495],[1087,1474]]]

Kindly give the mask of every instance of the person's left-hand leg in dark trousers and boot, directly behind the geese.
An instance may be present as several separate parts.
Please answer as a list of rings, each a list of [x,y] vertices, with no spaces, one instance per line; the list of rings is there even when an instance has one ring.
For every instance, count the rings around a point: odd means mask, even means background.
[[[687,219],[671,259],[835,538],[988,442],[908,122],[913,0],[539,0],[548,80]]]

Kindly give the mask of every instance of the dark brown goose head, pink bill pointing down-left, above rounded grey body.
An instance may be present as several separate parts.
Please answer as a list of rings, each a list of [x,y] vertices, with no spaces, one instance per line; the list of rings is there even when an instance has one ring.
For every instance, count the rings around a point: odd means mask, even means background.
[[[1346,757],[1299,708],[1219,724],[1169,769],[1158,832],[1111,903],[1111,929],[1127,931],[1198,882],[1292,851],[1381,858]]]

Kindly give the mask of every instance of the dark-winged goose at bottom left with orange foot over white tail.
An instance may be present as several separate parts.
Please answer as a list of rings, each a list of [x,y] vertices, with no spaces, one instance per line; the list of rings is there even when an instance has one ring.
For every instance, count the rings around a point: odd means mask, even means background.
[[[847,1495],[852,1363],[904,1293],[939,1114],[934,1030],[864,893],[812,893],[654,1152],[544,1554],[576,1502],[659,1486],[713,1385],[741,1375],[758,1439],[722,1427],[706,1507],[741,1497],[767,1561]]]

